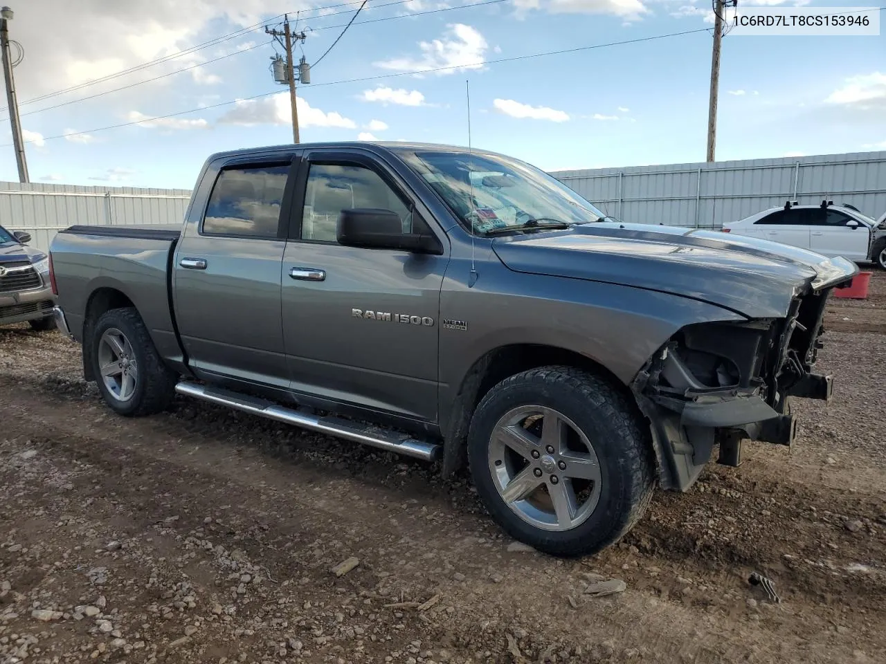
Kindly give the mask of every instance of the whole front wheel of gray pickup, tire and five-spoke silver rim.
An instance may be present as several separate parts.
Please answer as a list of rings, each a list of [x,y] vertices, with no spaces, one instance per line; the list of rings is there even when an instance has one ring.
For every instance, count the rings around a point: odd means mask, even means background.
[[[574,367],[511,376],[478,405],[470,471],[495,521],[542,552],[593,554],[649,506],[648,434],[627,398]]]

